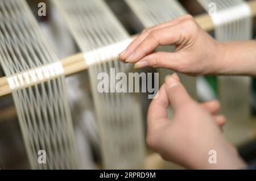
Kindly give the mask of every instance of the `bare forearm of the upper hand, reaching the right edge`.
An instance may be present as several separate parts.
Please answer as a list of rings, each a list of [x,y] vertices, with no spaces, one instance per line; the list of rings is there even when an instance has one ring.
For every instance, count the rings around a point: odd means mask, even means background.
[[[213,74],[256,77],[256,41],[220,43],[220,56]]]

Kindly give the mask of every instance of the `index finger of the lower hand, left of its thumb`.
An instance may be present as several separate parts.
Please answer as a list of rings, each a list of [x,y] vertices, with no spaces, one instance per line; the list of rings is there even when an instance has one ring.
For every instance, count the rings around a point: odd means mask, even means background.
[[[169,106],[168,97],[164,85],[160,87],[157,98],[152,99],[147,112],[148,126],[160,119],[167,119]]]

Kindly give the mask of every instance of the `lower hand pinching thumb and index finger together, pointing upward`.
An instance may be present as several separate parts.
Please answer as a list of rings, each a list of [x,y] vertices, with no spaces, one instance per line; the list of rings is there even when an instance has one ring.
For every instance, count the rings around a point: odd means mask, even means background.
[[[168,119],[171,104],[174,117]],[[225,117],[216,115],[217,101],[199,104],[191,99],[176,74],[166,78],[148,109],[147,144],[168,161],[188,169],[243,169],[246,164],[222,135]],[[217,163],[210,164],[209,151]]]

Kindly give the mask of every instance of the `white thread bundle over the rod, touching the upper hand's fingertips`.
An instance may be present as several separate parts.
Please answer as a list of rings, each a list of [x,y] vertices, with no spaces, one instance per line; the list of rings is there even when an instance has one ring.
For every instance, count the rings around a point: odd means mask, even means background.
[[[102,0],[55,1],[89,66],[101,153],[106,169],[143,169],[144,141],[142,111],[131,93],[99,92],[98,75],[128,73],[131,65],[122,64],[118,53],[129,45],[129,34]],[[127,86],[127,85],[124,85]],[[115,82],[108,90],[115,90]]]

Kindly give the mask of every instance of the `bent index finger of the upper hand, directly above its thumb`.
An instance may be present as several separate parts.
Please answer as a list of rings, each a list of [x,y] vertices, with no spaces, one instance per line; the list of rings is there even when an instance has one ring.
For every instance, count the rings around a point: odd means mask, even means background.
[[[138,62],[147,54],[154,51],[159,45],[179,44],[181,41],[185,42],[183,40],[185,36],[181,36],[182,32],[183,31],[181,31],[180,24],[151,31],[148,36],[135,48],[134,52],[127,57],[126,62]]]

